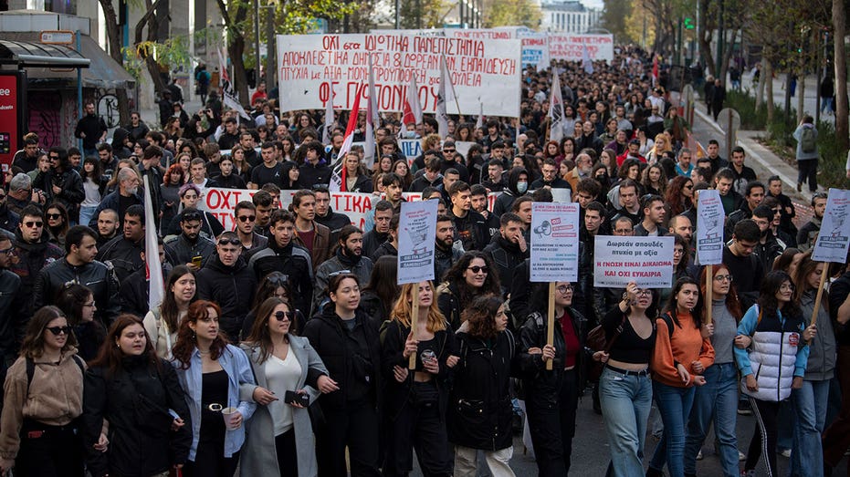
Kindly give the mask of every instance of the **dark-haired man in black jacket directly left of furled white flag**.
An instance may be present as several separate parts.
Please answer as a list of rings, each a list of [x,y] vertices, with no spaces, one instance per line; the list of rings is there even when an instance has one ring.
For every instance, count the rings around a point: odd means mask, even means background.
[[[131,205],[124,213],[124,231],[100,248],[98,260],[111,264],[118,277],[118,283],[124,283],[131,273],[144,267],[144,209],[141,205]]]

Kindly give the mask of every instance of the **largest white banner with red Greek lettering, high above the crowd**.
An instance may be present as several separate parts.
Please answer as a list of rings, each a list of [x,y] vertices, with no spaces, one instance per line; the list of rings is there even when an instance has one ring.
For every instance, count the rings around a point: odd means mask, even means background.
[[[519,116],[522,67],[519,39],[474,39],[410,36],[397,33],[347,35],[278,35],[280,109],[325,109],[332,98],[336,109],[352,109],[361,85],[374,64],[379,111],[400,112],[410,78],[419,85],[425,112],[435,112],[441,57],[455,87],[457,104],[449,114],[477,113]]]

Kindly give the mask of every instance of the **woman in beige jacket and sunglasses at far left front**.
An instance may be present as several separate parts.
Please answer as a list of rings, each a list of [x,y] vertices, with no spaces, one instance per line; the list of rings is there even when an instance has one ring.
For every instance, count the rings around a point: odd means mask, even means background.
[[[77,339],[56,306],[29,320],[20,358],[5,378],[0,416],[0,472],[82,477],[79,432],[85,363]],[[100,441],[100,449],[104,441]]]

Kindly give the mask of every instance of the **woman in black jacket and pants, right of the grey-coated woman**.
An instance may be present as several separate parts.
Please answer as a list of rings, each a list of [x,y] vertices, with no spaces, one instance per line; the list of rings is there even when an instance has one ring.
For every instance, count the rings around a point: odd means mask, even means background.
[[[316,432],[319,475],[347,475],[347,447],[352,475],[377,477],[383,389],[378,326],[359,307],[355,275],[332,276],[328,289],[331,303],[303,333],[340,387],[318,400],[325,417]]]

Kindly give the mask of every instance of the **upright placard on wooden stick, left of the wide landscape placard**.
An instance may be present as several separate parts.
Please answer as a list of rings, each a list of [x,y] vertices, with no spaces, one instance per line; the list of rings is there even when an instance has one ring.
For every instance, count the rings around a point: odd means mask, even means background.
[[[575,282],[579,277],[579,204],[531,203],[532,282]]]

